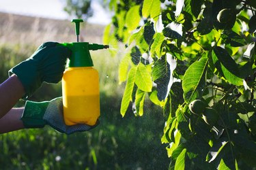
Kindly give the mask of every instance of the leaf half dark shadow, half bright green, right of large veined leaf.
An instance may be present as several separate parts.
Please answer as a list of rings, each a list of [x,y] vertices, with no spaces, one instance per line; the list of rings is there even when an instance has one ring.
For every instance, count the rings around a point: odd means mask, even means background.
[[[221,67],[217,66],[216,68],[221,69],[218,71],[223,72],[223,75],[227,81],[237,86],[243,85],[243,80],[240,78],[238,65],[235,61],[233,61],[233,58],[231,58],[227,50],[216,46],[214,50],[212,50],[212,60],[215,65],[221,65]]]

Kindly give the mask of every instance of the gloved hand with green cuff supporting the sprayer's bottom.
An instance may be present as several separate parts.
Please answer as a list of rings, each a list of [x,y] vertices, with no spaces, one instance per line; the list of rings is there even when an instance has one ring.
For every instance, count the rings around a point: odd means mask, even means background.
[[[23,116],[20,119],[23,121],[25,128],[42,128],[48,124],[53,129],[66,134],[89,131],[99,124],[98,120],[94,126],[87,124],[67,126],[63,120],[62,97],[43,102],[27,101]]]

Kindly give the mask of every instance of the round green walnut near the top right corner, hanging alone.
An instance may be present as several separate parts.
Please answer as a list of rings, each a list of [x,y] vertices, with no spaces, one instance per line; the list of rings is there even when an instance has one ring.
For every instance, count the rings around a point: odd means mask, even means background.
[[[236,21],[236,12],[230,8],[225,8],[218,12],[217,20],[223,24]]]

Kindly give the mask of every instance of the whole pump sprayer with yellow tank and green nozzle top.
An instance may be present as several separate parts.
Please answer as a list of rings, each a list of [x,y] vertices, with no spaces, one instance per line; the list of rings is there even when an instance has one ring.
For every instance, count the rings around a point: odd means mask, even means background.
[[[93,126],[100,116],[100,88],[98,71],[93,68],[89,50],[109,46],[79,42],[80,22],[83,20],[72,22],[75,24],[77,42],[62,44],[72,51],[62,78],[63,116],[67,125]]]

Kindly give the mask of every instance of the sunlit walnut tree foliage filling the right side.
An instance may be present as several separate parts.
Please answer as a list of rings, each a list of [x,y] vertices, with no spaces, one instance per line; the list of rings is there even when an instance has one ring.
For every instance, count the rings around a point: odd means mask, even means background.
[[[132,103],[143,116],[146,95],[162,107],[169,169],[256,167],[255,1],[111,0],[109,7],[115,15],[104,43],[128,51],[119,65],[121,114]],[[188,108],[196,99],[207,104],[201,114]]]

